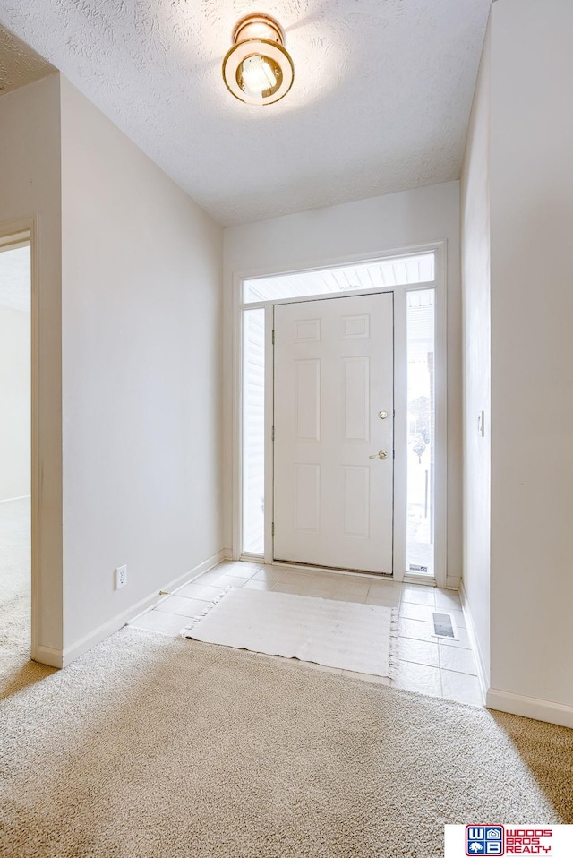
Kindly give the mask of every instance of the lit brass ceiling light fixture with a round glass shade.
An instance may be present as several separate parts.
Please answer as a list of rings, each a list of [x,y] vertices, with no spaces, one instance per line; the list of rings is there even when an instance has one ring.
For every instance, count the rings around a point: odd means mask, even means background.
[[[252,13],[236,23],[223,60],[223,80],[235,99],[273,104],[286,96],[295,68],[284,45],[284,30],[270,15]]]

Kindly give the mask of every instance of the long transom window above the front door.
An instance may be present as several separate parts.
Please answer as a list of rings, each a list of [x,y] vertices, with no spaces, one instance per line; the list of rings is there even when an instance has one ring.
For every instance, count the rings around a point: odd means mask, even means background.
[[[410,256],[345,265],[341,268],[245,279],[243,303],[259,304],[284,298],[389,289],[415,283],[432,283],[434,279],[435,254],[415,253]]]

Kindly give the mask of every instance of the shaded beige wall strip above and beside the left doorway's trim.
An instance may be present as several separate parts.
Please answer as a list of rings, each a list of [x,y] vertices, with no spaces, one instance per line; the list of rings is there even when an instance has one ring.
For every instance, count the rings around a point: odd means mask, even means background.
[[[35,219],[38,473],[32,553],[38,623],[32,654],[62,648],[61,211],[59,75],[0,96],[0,229]],[[37,516],[41,509],[41,516]]]

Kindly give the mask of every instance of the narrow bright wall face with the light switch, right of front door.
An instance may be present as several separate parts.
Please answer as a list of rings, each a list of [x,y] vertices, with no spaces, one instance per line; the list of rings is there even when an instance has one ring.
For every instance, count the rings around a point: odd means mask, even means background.
[[[464,589],[490,678],[490,35],[475,87],[461,177],[464,346]],[[484,413],[484,433],[478,417]]]

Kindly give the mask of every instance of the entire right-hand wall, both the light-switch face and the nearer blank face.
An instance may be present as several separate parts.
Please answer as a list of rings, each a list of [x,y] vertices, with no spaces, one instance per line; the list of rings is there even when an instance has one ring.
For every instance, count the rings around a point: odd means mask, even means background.
[[[572,39],[569,0],[492,5],[462,176],[467,602],[488,705],[568,726]]]

